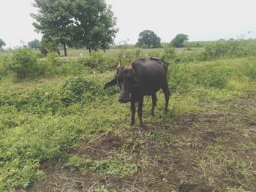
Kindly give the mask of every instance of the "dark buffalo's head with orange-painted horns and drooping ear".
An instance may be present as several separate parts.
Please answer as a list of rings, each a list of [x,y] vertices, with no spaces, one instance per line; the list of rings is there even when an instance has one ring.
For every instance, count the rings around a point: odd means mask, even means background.
[[[131,101],[131,93],[134,91],[134,88],[137,84],[131,61],[129,61],[129,66],[121,66],[121,59],[119,59],[116,75],[113,80],[110,80],[110,82],[105,84],[104,89],[110,88],[116,84],[121,91],[119,102],[127,103]]]

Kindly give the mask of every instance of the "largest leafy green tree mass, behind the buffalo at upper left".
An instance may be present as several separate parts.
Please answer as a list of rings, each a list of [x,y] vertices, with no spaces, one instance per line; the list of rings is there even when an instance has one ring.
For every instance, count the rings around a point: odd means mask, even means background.
[[[106,50],[118,31],[116,18],[105,0],[35,0],[38,14],[33,25],[45,41],[69,47]]]

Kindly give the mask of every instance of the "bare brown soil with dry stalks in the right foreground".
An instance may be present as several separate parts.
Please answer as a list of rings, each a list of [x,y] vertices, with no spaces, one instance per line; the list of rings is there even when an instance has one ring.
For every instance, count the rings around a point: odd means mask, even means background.
[[[45,164],[45,177],[23,191],[95,191],[100,185],[116,191],[256,191],[256,99],[235,99],[217,110],[171,118],[146,133],[131,129],[118,137],[105,133],[80,142],[76,155],[92,160],[127,153],[140,162],[129,177],[91,170],[70,172]],[[146,148],[143,148],[143,146]],[[143,159],[147,164],[141,166]]]

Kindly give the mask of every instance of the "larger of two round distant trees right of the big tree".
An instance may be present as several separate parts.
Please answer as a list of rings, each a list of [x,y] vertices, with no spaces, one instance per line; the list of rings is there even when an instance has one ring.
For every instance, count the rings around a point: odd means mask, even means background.
[[[154,31],[144,30],[140,32],[138,42],[136,43],[138,47],[148,47],[157,48],[161,47],[161,39],[157,37]]]

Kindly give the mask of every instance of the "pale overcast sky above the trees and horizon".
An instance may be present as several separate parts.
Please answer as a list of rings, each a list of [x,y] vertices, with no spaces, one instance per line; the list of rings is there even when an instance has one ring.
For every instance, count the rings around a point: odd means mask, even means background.
[[[33,0],[0,0],[0,39],[6,47],[40,39],[34,32]],[[241,34],[256,38],[255,0],[106,0],[111,4],[119,28],[116,44],[135,43],[141,31],[155,32],[163,42],[176,34],[190,41],[237,39]]]

